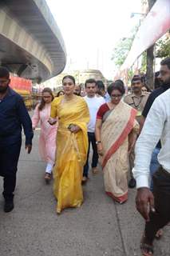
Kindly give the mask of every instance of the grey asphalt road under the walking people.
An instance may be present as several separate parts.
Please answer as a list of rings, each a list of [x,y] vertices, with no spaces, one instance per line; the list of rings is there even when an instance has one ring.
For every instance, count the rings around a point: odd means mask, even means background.
[[[38,154],[38,133],[30,155],[22,147],[15,191],[15,208],[3,212],[0,198],[1,256],[140,256],[144,221],[135,209],[135,190],[128,202],[118,205],[105,194],[102,172],[84,186],[80,209],[55,211],[52,184],[44,182],[45,163]],[[0,179],[2,190],[2,178]],[[154,255],[170,255],[170,226],[155,242]]]

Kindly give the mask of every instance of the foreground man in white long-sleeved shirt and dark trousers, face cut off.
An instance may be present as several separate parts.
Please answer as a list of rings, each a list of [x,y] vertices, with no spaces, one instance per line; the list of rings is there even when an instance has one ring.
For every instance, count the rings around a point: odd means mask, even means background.
[[[164,66],[161,67],[164,69]],[[161,70],[170,82],[170,70]],[[152,176],[153,193],[149,190],[149,166],[157,142],[162,148],[158,155],[160,169]],[[152,255],[156,232],[170,222],[170,89],[153,102],[144,128],[136,142],[133,169],[136,178],[136,208],[146,220],[141,242],[143,255]]]

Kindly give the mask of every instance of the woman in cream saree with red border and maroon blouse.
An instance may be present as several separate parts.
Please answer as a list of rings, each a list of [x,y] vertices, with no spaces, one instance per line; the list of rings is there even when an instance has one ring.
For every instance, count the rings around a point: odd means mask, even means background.
[[[101,106],[97,113],[97,150],[101,155],[105,192],[115,201],[128,199],[128,154],[139,131],[136,110],[121,101],[125,87],[115,82],[108,88],[111,101]]]

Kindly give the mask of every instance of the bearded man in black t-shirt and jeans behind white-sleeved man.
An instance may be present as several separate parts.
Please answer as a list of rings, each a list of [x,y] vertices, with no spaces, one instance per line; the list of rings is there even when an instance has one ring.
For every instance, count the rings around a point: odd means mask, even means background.
[[[164,70],[160,69],[160,78],[166,73],[166,71],[170,70],[170,58],[165,58],[162,62],[160,62],[161,66],[164,66]],[[143,116],[143,123],[145,118],[147,118],[148,112],[152,106],[152,103],[155,101],[155,99],[160,96],[160,94],[164,94],[164,92],[166,90],[168,90],[170,88],[170,81],[166,80],[166,78],[164,79],[164,81],[162,81],[162,85],[160,86],[160,88],[153,90],[152,93],[149,95],[148,97],[148,101],[146,102],[146,105],[144,106],[144,110],[142,112],[142,116]],[[154,131],[153,131],[154,132]],[[152,160],[151,160],[151,165],[150,165],[150,173],[151,173],[151,177],[152,175],[156,172],[156,170],[158,170],[159,168],[159,162],[157,160],[157,156],[160,153],[160,142],[157,144],[155,150],[152,153]],[[152,185],[152,181],[151,181],[151,190],[153,190],[153,185]]]

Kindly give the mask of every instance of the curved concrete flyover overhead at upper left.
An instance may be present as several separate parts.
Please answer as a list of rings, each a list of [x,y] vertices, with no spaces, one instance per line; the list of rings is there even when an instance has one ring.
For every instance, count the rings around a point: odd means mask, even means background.
[[[45,0],[0,2],[0,64],[43,82],[65,68],[61,32]]]

